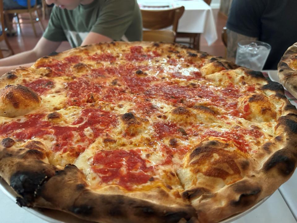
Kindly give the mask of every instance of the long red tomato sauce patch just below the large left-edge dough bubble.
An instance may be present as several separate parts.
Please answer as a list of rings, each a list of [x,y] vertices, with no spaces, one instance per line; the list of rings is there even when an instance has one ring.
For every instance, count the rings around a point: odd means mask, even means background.
[[[56,144],[52,147],[54,152],[71,150],[73,155],[79,155],[80,152],[94,142],[95,138],[106,131],[110,125],[116,125],[117,122],[115,115],[95,108],[87,108],[81,111],[81,116],[72,123],[72,125],[81,124],[78,127],[55,126],[49,121],[43,121],[44,117],[45,114],[33,114],[28,115],[28,119],[24,122],[13,121],[9,124],[1,125],[0,135],[12,134],[17,139],[25,140],[42,138],[47,134],[54,135],[56,137]],[[84,134],[84,130],[88,127],[93,131],[92,137]],[[79,136],[78,142],[83,142],[83,145],[78,145],[73,140],[75,134]],[[78,151],[80,152],[78,153]]]

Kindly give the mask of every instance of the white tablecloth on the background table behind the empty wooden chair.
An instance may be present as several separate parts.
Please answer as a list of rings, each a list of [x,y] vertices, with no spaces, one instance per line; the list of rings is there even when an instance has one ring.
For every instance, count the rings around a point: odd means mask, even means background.
[[[184,6],[185,11],[179,19],[177,31],[181,33],[201,33],[206,39],[208,45],[217,40],[217,28],[213,16],[213,11],[203,0],[137,0],[140,8],[146,10],[162,10],[162,5],[170,7]],[[145,6],[159,6],[156,8]]]

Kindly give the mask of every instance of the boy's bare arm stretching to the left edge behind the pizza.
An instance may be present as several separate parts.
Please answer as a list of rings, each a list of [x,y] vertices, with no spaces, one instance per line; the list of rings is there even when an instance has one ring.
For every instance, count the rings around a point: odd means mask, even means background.
[[[4,67],[6,66],[19,67],[21,64],[24,63],[32,63],[37,59],[45,55],[49,55],[50,53],[57,50],[60,44],[61,42],[54,42],[41,37],[41,39],[37,42],[36,46],[32,50],[24,51],[22,53],[0,59],[0,67],[4,69]]]

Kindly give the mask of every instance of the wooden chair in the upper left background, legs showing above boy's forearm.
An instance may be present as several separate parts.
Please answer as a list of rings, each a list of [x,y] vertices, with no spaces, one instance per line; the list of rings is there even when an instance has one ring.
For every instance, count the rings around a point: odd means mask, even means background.
[[[28,13],[29,14],[29,22],[25,22],[24,19],[22,19],[22,24],[32,24],[32,28],[33,28],[33,32],[35,34],[35,36],[37,37],[37,33],[36,33],[36,29],[35,29],[35,23],[38,23],[40,25],[40,28],[42,30],[42,32],[44,32],[44,27],[41,23],[41,20],[39,19],[39,16],[38,16],[38,13],[37,13],[37,0],[35,0],[35,4],[34,6],[31,7],[31,1],[30,0],[27,0],[27,3],[28,3],[28,7],[25,8],[25,9],[11,9],[11,10],[5,10],[4,13],[6,15],[5,19],[7,20],[7,22],[11,22],[11,21],[8,21],[8,14],[14,14],[16,16],[16,23],[19,25],[21,24],[19,22],[19,14],[23,14],[23,13]],[[35,13],[35,17],[32,16],[32,13]],[[19,26],[20,27],[20,26]]]

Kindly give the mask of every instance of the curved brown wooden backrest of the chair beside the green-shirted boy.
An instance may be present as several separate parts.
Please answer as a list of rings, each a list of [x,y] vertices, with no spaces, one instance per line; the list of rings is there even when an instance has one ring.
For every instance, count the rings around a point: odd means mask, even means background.
[[[173,25],[172,29],[176,32],[184,11],[183,6],[168,10],[141,10],[143,28],[156,30]]]

